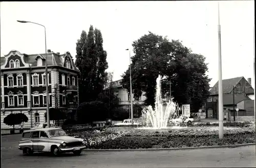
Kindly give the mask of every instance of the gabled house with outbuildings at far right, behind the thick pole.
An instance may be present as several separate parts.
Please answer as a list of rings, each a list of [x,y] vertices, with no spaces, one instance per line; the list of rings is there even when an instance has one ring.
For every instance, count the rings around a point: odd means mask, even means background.
[[[210,96],[206,102],[206,117],[219,118],[218,103],[218,85],[216,82],[214,87],[210,89]],[[253,116],[253,100],[254,90],[251,87],[251,78],[246,80],[243,76],[222,80],[223,86],[223,108],[233,111],[233,86],[234,86],[234,106],[239,108],[239,116]],[[231,113],[233,115],[233,113]]]

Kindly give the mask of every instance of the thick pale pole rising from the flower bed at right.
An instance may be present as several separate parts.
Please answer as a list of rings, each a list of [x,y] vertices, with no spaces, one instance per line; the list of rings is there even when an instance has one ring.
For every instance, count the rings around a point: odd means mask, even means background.
[[[222,63],[221,63],[221,25],[220,3],[218,2],[218,40],[219,40],[219,138],[223,138],[223,92],[222,92]]]

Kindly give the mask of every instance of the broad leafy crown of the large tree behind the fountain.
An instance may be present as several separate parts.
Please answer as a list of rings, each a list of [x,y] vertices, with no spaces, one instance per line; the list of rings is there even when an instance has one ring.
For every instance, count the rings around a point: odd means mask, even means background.
[[[198,110],[209,95],[210,79],[205,74],[205,57],[191,53],[182,41],[171,40],[149,32],[133,42],[132,86],[134,98],[145,93],[146,105],[154,106],[158,75],[162,75],[162,93],[179,104],[190,104],[191,111]],[[130,91],[130,67],[122,75],[122,85]]]

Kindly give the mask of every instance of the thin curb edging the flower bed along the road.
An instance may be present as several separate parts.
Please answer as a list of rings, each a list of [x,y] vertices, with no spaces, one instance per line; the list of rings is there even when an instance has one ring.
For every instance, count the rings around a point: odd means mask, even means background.
[[[195,150],[195,149],[211,149],[211,148],[239,148],[243,146],[255,145],[256,143],[234,144],[234,145],[219,145],[219,146],[199,146],[186,148],[156,148],[156,149],[84,149],[87,152],[123,152],[123,151],[175,151],[175,150]]]

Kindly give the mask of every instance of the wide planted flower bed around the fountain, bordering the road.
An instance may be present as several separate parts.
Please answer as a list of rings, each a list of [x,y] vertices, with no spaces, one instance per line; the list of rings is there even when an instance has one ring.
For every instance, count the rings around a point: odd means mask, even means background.
[[[247,124],[248,125],[248,124]],[[105,127],[100,130],[68,132],[86,139],[88,149],[184,148],[194,146],[255,143],[255,124],[244,128],[224,128],[219,139],[218,127],[187,127],[183,129],[140,130],[131,127]]]

